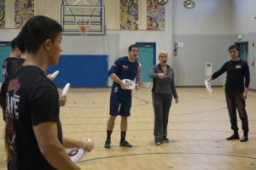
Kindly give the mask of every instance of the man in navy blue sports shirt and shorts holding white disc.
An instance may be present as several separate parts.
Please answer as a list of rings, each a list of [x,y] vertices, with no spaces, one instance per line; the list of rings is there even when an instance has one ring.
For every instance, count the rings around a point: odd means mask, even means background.
[[[116,116],[121,116],[121,140],[119,145],[132,147],[125,140],[127,117],[130,116],[131,109],[131,90],[127,89],[127,85],[122,80],[130,79],[133,81],[136,78],[135,89],[139,89],[142,84],[142,65],[137,61],[137,45],[131,45],[128,50],[129,56],[117,59],[108,71],[108,77],[113,80],[113,86],[110,94],[110,116],[108,118],[105,148],[110,148],[111,133],[113,132]]]

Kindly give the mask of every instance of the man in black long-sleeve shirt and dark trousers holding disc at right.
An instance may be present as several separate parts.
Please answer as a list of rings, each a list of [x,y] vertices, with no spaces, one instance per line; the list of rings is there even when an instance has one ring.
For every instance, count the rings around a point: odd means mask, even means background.
[[[225,62],[212,77],[207,79],[207,82],[212,81],[227,71],[225,96],[230,115],[231,129],[234,131],[234,134],[231,135],[230,138],[227,138],[227,140],[240,139],[236,119],[237,110],[241,119],[241,128],[243,130],[243,137],[240,141],[246,142],[248,140],[249,128],[247,111],[245,110],[245,99],[247,99],[247,90],[250,83],[250,71],[247,62],[238,58],[239,48],[236,45],[230,46],[229,53],[231,60]]]

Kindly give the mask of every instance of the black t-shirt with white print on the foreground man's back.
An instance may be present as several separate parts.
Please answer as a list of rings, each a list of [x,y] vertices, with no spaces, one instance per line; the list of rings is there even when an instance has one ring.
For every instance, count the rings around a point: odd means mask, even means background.
[[[62,143],[59,94],[55,84],[38,67],[23,66],[9,77],[6,102],[4,116],[9,144],[15,151],[11,170],[55,169],[41,154],[32,128],[42,122],[56,122]]]

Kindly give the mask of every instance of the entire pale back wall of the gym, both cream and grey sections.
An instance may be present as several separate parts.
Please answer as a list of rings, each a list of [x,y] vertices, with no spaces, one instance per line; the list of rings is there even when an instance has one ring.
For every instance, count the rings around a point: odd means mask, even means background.
[[[35,14],[47,14],[60,21],[60,2],[35,0]],[[233,42],[232,0],[195,0],[194,9],[184,8],[183,0],[171,0],[166,4],[165,31],[144,30],[146,24],[141,19],[146,15],[146,6],[139,8],[138,31],[119,31],[119,0],[103,2],[106,8],[106,36],[63,36],[62,54],[106,54],[110,67],[115,59],[127,54],[131,43],[156,42],[156,53],[166,50],[170,54],[169,64],[174,67],[178,86],[203,86],[205,63],[212,62],[212,71],[217,71],[230,59],[227,48]],[[146,0],[139,2],[146,3]],[[11,40],[17,32],[15,29],[0,30],[1,41]],[[184,44],[183,48],[178,48],[177,56],[172,54],[174,42]],[[222,77],[212,82],[212,85],[222,84]]]

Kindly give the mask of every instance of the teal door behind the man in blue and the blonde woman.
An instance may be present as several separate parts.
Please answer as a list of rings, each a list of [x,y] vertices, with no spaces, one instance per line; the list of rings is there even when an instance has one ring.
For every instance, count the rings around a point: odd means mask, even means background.
[[[139,47],[137,60],[143,65],[143,82],[152,82],[149,71],[155,65],[155,42],[136,42]]]

